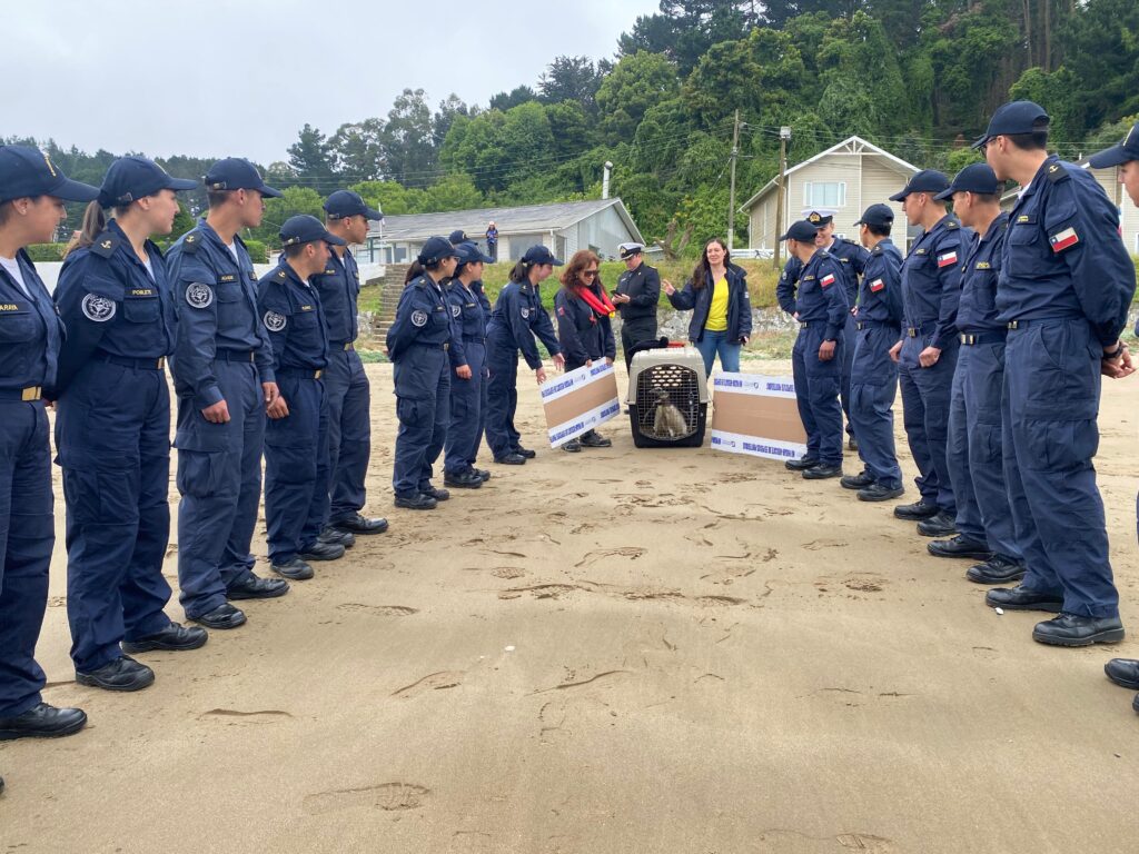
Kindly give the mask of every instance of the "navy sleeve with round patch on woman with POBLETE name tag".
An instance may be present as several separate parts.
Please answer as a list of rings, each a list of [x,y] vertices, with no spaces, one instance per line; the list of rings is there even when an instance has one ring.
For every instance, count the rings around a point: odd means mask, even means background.
[[[59,350],[57,396],[67,391],[98,348],[107,326],[123,309],[123,285],[105,258],[83,254],[64,262],[54,294],[59,318],[67,329]]]

